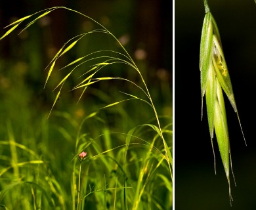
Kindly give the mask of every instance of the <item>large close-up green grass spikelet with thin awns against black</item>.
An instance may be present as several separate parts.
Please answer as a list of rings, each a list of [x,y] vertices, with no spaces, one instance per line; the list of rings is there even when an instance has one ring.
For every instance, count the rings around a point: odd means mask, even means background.
[[[223,91],[232,104],[234,111],[238,116],[234,93],[232,90],[230,75],[223,54],[221,45],[221,37],[217,24],[204,0],[205,18],[203,20],[203,28],[200,43],[200,76],[201,76],[201,94],[202,94],[202,116],[203,116],[203,96],[206,98],[207,119],[209,124],[209,132],[211,136],[211,146],[213,148],[213,134],[217,138],[221,159],[223,161],[226,178],[228,179],[230,205],[232,202],[230,190],[230,167],[232,171],[232,161],[230,153],[230,142],[228,137],[228,124],[226,120],[226,110],[223,98]],[[240,118],[238,121],[241,127]],[[244,137],[244,133],[242,131]],[[245,141],[245,137],[244,137]],[[245,142],[246,145],[246,142]],[[215,153],[213,149],[214,165]],[[230,162],[229,162],[230,161]],[[216,167],[215,167],[216,173]],[[232,171],[234,177],[234,173]],[[234,180],[235,182],[235,180]],[[236,184],[236,182],[235,182]]]

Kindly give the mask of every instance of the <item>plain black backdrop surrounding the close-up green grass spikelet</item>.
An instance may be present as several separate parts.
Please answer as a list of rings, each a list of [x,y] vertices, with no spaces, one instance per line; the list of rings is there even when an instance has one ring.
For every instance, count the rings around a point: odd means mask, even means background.
[[[205,98],[201,121],[199,52],[204,18],[202,1],[175,1],[175,209],[256,208],[256,5],[252,0],[208,1],[223,43],[234,96],[247,147],[236,113],[225,100],[232,166],[234,202],[216,138],[217,175],[207,124]],[[226,99],[226,98],[225,98]],[[232,176],[232,175],[231,175]]]

